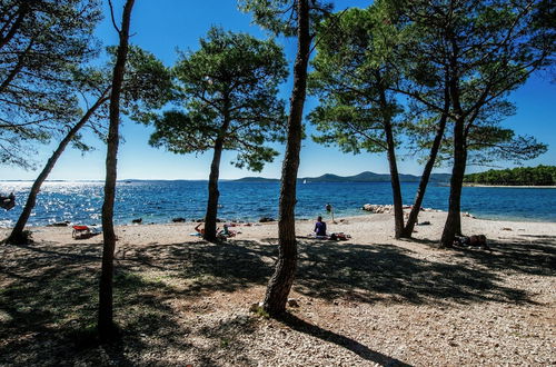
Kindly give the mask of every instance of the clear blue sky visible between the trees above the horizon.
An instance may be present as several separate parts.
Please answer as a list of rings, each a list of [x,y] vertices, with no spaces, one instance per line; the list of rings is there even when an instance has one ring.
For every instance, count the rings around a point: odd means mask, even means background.
[[[106,2],[106,1],[105,1]],[[115,0],[119,17],[123,0]],[[370,1],[337,0],[338,8],[366,7]],[[105,4],[106,6],[106,4]],[[113,30],[106,8],[106,18],[97,31],[97,37],[105,46],[116,44],[117,34]],[[250,24],[249,14],[241,13],[236,8],[236,0],[137,0],[133,9],[131,28],[132,43],[155,53],[167,66],[176,60],[176,50],[198,48],[198,40],[205,37],[211,26],[221,26],[227,30],[249,32],[264,38],[266,33],[257,26]],[[294,60],[295,40],[281,40],[289,61]],[[290,68],[291,69],[291,68]],[[282,87],[282,98],[288,100],[291,89],[291,79]],[[517,103],[517,115],[506,121],[506,126],[514,128],[518,133],[537,137],[549,145],[544,156],[528,161],[526,166],[556,165],[556,86],[549,83],[547,76],[532,78],[525,86],[512,95]],[[306,113],[316,106],[315,100],[308,99]],[[125,142],[120,146],[118,156],[118,178],[130,179],[208,179],[211,152],[195,157],[193,155],[178,156],[162,149],[151,148],[148,139],[152,130],[125,119],[121,133]],[[308,132],[310,133],[309,127]],[[106,148],[95,138],[88,139],[97,150],[81,156],[80,152],[68,150],[60,158],[49,179],[103,179]],[[282,146],[277,147],[281,152]],[[41,149],[41,161],[46,161],[53,146]],[[222,156],[220,177],[234,179],[245,176],[280,177],[280,155],[275,162],[266,166],[261,173],[239,170],[229,162],[234,152]],[[421,167],[414,158],[400,161],[400,172],[420,175]],[[500,166],[512,167],[500,162]],[[388,165],[384,155],[363,153],[359,156],[344,155],[336,148],[325,148],[314,143],[310,139],[304,141],[299,176],[319,176],[331,172],[340,176],[356,175],[365,170],[388,172]],[[481,170],[470,167],[468,172]],[[438,169],[438,172],[449,172],[449,168]],[[0,171],[0,180],[34,179],[37,172],[17,168],[4,168]]]

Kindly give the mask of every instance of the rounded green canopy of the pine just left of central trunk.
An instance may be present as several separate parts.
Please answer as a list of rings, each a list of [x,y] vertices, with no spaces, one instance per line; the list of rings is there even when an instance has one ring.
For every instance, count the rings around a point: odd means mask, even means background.
[[[173,68],[175,101],[182,110],[155,118],[150,143],[176,153],[215,147],[238,152],[235,165],[260,171],[278,152],[264,143],[279,137],[284,102],[276,96],[287,76],[272,41],[212,28],[196,52],[181,53]]]

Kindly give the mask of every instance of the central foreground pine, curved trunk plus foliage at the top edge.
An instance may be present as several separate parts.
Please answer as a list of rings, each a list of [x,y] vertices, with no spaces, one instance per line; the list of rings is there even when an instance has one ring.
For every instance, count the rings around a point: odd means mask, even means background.
[[[251,11],[255,21],[275,33],[297,37],[294,65],[294,89],[288,116],[286,152],[281,170],[279,199],[279,255],[276,270],[268,284],[264,308],[272,316],[286,310],[297,266],[296,242],[296,184],[302,139],[302,117],[307,93],[307,67],[310,57],[311,21],[318,22],[329,6],[308,0],[242,0],[241,9]]]

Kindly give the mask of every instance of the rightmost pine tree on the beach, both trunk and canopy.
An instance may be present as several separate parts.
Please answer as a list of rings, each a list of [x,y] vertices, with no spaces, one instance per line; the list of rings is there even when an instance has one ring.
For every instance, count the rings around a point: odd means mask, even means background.
[[[504,115],[504,109],[497,109],[506,106],[509,92],[533,72],[553,63],[555,29],[548,26],[549,10],[543,0],[391,3],[401,6],[399,21],[411,24],[423,42],[437,40],[429,53],[440,56],[438,66],[446,72],[454,159],[441,239],[443,246],[448,247],[455,235],[461,232],[461,184],[474,137],[489,131],[493,136],[483,137],[486,141],[512,138],[504,130],[492,128],[496,126],[490,122],[497,120],[492,117]],[[543,152],[544,146],[532,142],[533,148],[540,148],[537,153]],[[535,153],[532,149],[525,151],[527,157]]]

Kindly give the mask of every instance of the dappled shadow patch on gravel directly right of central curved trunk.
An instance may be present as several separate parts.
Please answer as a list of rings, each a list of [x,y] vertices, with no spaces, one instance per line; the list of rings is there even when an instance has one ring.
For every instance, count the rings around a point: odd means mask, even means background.
[[[419,259],[391,245],[300,246],[296,290],[324,299],[411,304],[526,302],[527,294],[505,287],[488,269]]]

